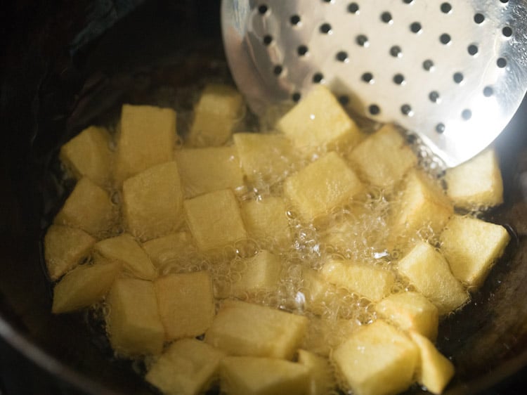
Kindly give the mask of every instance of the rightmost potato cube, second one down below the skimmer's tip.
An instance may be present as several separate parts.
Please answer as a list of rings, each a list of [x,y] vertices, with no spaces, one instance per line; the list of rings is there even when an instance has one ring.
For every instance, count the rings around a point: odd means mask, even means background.
[[[441,233],[441,252],[457,280],[469,287],[481,287],[509,240],[503,226],[455,215]]]

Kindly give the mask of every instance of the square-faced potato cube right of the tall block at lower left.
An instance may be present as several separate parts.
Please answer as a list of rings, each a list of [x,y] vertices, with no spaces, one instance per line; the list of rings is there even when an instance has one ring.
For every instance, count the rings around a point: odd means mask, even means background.
[[[209,328],[214,318],[209,272],[169,274],[154,285],[167,340],[195,337]]]

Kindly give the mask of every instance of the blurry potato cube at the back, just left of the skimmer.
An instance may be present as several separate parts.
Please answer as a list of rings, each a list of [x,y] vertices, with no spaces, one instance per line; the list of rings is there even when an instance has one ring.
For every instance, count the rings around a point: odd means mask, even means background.
[[[208,84],[194,106],[194,120],[188,134],[193,147],[223,145],[242,117],[243,98],[232,86]]]

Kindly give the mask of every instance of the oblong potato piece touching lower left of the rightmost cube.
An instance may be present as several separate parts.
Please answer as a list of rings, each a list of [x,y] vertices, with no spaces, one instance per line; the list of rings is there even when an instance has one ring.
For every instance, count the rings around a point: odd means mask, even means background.
[[[440,316],[467,302],[468,294],[453,276],[448,262],[427,242],[418,242],[399,261],[398,271],[436,305]]]

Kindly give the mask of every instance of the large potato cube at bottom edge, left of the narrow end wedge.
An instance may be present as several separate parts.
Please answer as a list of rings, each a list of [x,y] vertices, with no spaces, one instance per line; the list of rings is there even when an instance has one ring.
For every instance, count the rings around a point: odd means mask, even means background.
[[[412,384],[419,351],[402,332],[377,320],[354,332],[332,360],[353,394],[392,395]]]

